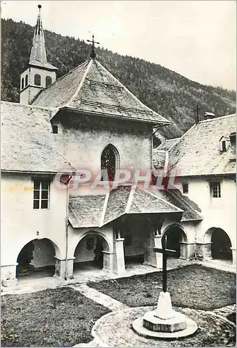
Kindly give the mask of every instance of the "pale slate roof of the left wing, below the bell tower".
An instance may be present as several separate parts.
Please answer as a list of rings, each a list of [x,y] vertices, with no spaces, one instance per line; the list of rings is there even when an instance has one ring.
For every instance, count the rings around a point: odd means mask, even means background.
[[[58,152],[50,118],[56,110],[1,102],[1,169],[56,173],[70,168]]]

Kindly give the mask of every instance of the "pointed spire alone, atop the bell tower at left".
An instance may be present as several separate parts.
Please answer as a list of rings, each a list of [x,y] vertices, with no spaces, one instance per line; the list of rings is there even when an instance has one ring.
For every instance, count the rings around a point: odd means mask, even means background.
[[[47,63],[47,54],[46,54],[46,49],[44,44],[44,30],[42,27],[42,20],[41,20],[41,13],[40,13],[41,7],[42,7],[41,5],[38,5],[39,14],[38,14],[37,23],[35,26],[35,33],[33,37],[33,45],[31,48],[31,57],[30,57],[29,63],[32,63],[33,61],[40,61],[41,63]]]

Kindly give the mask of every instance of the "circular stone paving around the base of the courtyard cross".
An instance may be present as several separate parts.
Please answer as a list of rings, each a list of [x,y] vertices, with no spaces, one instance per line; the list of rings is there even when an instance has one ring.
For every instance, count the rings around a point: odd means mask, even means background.
[[[174,309],[197,322],[199,329],[195,335],[168,341],[142,337],[133,331],[131,323],[152,309],[154,307],[127,308],[104,315],[92,329],[95,337],[92,342],[96,347],[206,347],[210,342],[212,347],[234,346],[236,326],[233,323],[213,312],[189,308]],[[92,347],[92,342],[74,347]]]

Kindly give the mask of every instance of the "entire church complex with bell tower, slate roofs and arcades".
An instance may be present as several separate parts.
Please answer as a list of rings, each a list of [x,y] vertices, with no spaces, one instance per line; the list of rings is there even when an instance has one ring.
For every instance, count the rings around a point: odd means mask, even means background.
[[[235,262],[235,117],[153,150],[170,122],[97,61],[94,40],[90,59],[56,79],[40,7],[20,102],[1,102],[3,285],[39,269],[67,280],[91,265],[160,268],[164,236],[177,258]]]

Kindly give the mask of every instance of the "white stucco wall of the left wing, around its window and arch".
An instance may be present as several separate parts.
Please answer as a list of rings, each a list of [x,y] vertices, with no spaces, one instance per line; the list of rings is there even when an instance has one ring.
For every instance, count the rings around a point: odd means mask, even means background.
[[[33,209],[31,175],[2,173],[2,266],[15,264],[19,252],[33,239],[50,239],[54,243],[55,255],[58,258],[65,258],[66,194],[66,190],[56,189],[53,179],[49,209]]]

